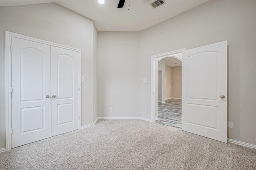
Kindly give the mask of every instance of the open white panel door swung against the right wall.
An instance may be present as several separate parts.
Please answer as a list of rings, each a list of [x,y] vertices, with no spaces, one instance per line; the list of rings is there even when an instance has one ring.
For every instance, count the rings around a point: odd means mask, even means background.
[[[182,130],[227,142],[227,42],[182,51]]]

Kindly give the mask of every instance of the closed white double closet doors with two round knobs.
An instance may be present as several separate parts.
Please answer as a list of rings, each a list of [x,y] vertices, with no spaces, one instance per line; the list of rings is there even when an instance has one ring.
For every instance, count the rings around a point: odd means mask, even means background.
[[[78,129],[78,52],[12,37],[12,148]]]

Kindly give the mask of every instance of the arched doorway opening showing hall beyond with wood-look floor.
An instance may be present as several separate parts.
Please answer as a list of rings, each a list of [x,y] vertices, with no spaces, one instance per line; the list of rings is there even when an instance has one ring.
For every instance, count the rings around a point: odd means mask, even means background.
[[[176,57],[167,56],[158,61],[158,109],[155,120],[156,123],[181,128],[182,69],[181,60]]]

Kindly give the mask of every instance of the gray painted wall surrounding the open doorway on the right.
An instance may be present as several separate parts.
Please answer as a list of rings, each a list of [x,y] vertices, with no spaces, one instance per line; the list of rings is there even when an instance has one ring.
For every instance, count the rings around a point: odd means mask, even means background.
[[[151,56],[228,41],[228,138],[256,144],[256,1],[209,1],[140,34],[141,117],[151,118]]]

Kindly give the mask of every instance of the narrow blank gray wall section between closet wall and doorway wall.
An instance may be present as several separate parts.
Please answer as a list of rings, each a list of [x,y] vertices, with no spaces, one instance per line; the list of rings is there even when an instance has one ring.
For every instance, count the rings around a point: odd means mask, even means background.
[[[140,32],[98,32],[99,117],[140,117],[139,61]]]

